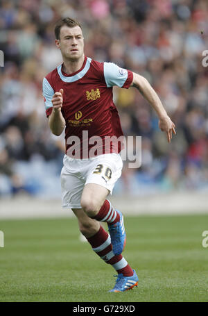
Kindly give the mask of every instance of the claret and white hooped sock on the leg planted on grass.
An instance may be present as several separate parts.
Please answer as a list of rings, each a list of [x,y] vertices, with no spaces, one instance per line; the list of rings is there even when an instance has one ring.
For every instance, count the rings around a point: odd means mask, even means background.
[[[132,268],[121,254],[119,256],[114,255],[110,235],[102,226],[100,226],[99,231],[94,236],[87,238],[87,241],[91,244],[92,250],[105,263],[112,265],[118,274],[122,273],[123,276],[132,276],[134,274]]]

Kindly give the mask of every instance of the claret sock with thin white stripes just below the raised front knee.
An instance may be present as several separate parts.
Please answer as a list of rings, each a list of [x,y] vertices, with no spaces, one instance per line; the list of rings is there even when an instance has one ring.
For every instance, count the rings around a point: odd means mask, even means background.
[[[98,214],[91,218],[96,219],[98,222],[107,222],[109,225],[116,224],[120,220],[119,213],[116,212],[108,200],[105,200]]]

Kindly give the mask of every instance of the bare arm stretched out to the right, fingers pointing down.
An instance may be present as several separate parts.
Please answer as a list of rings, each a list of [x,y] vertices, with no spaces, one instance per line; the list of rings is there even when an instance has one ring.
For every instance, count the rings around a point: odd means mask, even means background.
[[[168,142],[171,142],[172,133],[176,134],[175,124],[171,121],[170,117],[168,117],[166,110],[153,87],[146,78],[139,74],[135,74],[135,72],[133,72],[133,80],[130,87],[137,88],[148,103],[153,106],[159,117],[159,128],[166,133]]]

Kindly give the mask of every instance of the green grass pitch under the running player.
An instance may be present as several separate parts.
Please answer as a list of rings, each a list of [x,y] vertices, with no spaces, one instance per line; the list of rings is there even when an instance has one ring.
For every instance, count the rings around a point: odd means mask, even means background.
[[[123,256],[138,288],[108,293],[114,269],[86,242],[71,219],[1,221],[0,301],[208,301],[207,216],[125,217]]]

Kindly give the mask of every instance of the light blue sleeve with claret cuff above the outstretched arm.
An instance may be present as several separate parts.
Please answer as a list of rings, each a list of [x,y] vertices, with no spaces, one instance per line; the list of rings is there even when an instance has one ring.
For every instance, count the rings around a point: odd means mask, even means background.
[[[104,63],[103,71],[107,88],[114,85],[126,89],[130,87],[133,80],[133,74],[130,70],[120,68],[114,63]]]

